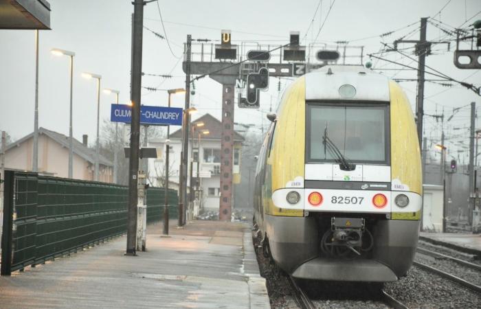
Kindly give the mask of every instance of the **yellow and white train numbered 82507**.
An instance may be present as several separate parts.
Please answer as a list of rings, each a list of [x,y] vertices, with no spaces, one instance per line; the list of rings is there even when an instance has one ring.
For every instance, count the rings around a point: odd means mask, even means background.
[[[405,276],[423,192],[399,84],[360,65],[326,65],[294,80],[267,117],[254,189],[262,252],[298,279]]]

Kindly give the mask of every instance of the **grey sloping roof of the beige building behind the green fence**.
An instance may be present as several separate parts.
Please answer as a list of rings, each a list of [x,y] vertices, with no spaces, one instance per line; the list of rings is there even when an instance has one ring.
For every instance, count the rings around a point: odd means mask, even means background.
[[[69,148],[69,137],[52,131],[52,130],[47,130],[46,128],[38,128],[38,135],[45,134],[47,137],[50,137],[54,141],[56,141],[58,144],[65,148]],[[15,146],[22,144],[24,141],[27,141],[28,139],[31,139],[34,137],[34,133],[30,133],[29,135],[26,135],[25,137],[22,137],[18,141],[14,141],[12,144],[8,145],[5,148],[5,151],[10,150],[11,148],[14,148]],[[78,155],[82,159],[85,159],[85,161],[89,161],[90,163],[95,163],[96,159],[96,150],[88,148],[87,146],[84,146],[84,144],[80,143],[77,139],[74,139],[74,154]],[[113,166],[112,161],[107,159],[106,157],[99,155],[99,164],[106,165],[106,166]]]

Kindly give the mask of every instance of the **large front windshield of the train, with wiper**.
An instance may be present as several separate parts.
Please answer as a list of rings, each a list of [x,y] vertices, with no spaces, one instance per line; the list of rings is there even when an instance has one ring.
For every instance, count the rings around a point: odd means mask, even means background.
[[[389,163],[388,104],[309,104],[307,113],[307,161],[338,162],[337,148],[350,163]]]

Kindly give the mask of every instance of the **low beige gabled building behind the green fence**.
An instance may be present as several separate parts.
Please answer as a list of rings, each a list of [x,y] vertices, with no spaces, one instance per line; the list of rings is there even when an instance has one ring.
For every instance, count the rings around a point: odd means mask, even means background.
[[[5,169],[32,171],[34,133],[14,141],[5,149]],[[96,150],[74,139],[74,179],[93,181]],[[100,155],[99,181],[113,181],[113,163]],[[38,173],[67,178],[69,172],[69,137],[45,128],[38,129]]]

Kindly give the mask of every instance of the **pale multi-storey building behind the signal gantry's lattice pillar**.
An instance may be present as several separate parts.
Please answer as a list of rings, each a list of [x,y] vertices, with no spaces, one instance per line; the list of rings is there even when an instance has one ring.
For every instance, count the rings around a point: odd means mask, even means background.
[[[203,126],[196,127],[193,134],[190,134],[189,154],[192,164],[189,166],[188,175],[191,174],[193,189],[197,181],[197,162],[200,158],[199,165],[199,182],[200,190],[197,193],[195,207],[199,207],[202,211],[219,211],[219,198],[221,196],[221,137],[222,123],[210,114],[205,114],[199,119],[192,121],[192,124],[203,123]],[[195,126],[192,126],[193,128]],[[204,135],[203,131],[209,131]],[[192,131],[191,131],[192,133]],[[200,133],[200,146],[199,146]],[[169,152],[169,186],[178,187],[179,168],[181,154],[181,130],[177,130],[170,134],[170,152]],[[240,183],[240,150],[244,138],[234,131],[234,153],[233,153],[233,183]],[[160,149],[161,156],[158,159],[149,159],[148,178],[150,183],[156,187],[164,187],[165,177],[165,152],[166,139],[149,141],[149,147]],[[193,151],[192,151],[193,150]],[[190,179],[188,179],[190,187]],[[196,208],[197,210],[197,208]],[[197,211],[194,211],[194,213]]]

